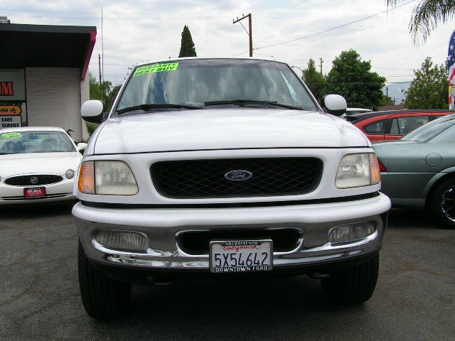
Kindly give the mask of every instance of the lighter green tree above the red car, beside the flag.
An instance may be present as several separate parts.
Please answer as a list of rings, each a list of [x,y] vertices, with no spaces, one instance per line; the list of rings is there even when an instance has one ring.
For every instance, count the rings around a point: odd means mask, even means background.
[[[414,80],[405,92],[407,109],[448,109],[449,93],[446,67],[433,65],[427,57],[418,70],[414,70]]]

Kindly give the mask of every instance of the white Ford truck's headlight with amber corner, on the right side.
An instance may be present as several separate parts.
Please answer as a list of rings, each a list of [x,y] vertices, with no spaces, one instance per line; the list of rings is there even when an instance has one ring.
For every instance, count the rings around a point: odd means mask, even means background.
[[[343,156],[336,172],[336,188],[355,188],[380,183],[381,173],[375,153]]]

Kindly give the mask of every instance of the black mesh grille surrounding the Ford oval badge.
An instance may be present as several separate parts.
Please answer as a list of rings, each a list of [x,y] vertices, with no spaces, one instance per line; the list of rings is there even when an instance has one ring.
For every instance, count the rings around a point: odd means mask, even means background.
[[[243,170],[252,177],[242,181],[225,178]],[[165,197],[255,197],[309,193],[321,180],[319,158],[225,158],[215,160],[161,161],[150,168],[156,190]]]

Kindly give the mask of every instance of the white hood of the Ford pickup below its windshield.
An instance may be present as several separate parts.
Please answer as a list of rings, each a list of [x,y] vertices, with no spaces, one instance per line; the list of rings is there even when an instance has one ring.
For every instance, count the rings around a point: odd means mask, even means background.
[[[96,136],[95,154],[232,148],[370,146],[353,124],[321,112],[196,109],[113,117]]]

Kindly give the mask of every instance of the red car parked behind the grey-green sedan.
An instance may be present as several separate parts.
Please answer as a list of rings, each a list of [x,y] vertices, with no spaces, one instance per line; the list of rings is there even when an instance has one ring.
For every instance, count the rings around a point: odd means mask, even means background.
[[[370,141],[396,140],[439,117],[454,114],[450,110],[390,110],[358,114],[348,120]]]

